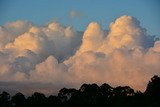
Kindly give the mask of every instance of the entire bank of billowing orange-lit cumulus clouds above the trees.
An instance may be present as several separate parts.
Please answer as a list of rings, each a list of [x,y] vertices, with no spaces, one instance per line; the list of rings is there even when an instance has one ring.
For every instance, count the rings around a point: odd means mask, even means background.
[[[1,26],[0,38],[1,90],[52,93],[109,83],[144,91],[148,80],[160,74],[160,41],[131,16],[116,19],[109,30],[91,22],[84,33],[57,22],[17,21]]]

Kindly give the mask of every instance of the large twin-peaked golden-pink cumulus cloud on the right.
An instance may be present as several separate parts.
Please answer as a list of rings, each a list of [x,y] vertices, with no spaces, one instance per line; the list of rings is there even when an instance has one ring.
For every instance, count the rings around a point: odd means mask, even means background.
[[[157,44],[136,18],[122,16],[110,24],[109,32],[98,23],[90,23],[80,49],[65,64],[80,77],[78,81],[108,82],[144,90],[149,78],[159,74],[159,58],[151,52]],[[151,56],[157,63],[151,64],[154,68],[148,64],[153,60]]]

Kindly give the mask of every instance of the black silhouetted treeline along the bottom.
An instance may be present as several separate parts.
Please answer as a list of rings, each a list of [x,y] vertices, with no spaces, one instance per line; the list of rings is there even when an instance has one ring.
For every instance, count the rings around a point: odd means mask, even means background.
[[[57,96],[35,92],[25,98],[22,93],[0,94],[0,107],[160,107],[160,77],[151,78],[144,93],[129,86],[116,88],[108,84],[83,84],[79,90],[63,88]]]

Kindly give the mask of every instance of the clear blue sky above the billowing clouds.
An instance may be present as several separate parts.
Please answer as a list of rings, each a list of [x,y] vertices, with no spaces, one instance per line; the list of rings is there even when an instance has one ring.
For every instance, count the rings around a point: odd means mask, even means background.
[[[83,17],[70,17],[75,11]],[[88,23],[96,21],[104,29],[122,15],[136,17],[151,35],[160,35],[159,0],[1,0],[0,25],[16,20],[28,20],[44,25],[56,20],[84,30]]]

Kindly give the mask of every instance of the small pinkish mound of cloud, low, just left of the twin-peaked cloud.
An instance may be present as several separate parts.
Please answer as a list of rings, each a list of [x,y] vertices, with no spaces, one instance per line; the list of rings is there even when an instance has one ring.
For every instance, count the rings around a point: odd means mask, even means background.
[[[37,64],[35,70],[30,72],[30,79],[40,83],[63,83],[67,77],[66,73],[67,66],[63,63],[58,64],[57,59],[49,56],[44,62]]]

